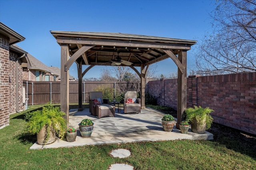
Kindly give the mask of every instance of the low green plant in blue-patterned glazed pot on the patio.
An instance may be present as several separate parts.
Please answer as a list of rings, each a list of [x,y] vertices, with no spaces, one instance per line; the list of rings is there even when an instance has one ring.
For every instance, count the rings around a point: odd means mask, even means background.
[[[83,119],[78,125],[82,137],[90,137],[92,135],[94,123],[91,119]]]

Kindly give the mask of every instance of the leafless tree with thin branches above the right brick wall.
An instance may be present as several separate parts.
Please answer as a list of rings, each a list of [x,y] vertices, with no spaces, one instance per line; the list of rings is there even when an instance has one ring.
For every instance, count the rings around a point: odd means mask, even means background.
[[[214,31],[198,43],[199,74],[229,74],[256,71],[255,0],[219,1]]]

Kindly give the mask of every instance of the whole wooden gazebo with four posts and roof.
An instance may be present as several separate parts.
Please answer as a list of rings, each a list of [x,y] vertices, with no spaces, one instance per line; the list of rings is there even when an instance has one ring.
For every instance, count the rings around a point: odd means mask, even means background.
[[[78,65],[79,108],[82,109],[82,77],[95,65],[120,65],[132,63],[141,81],[141,107],[145,108],[145,74],[150,64],[171,58],[178,66],[178,123],[186,109],[187,51],[196,43],[192,40],[153,37],[125,33],[50,31],[61,47],[60,106],[69,113],[69,69]],[[116,60],[116,57],[120,57]],[[129,61],[121,62],[120,61]],[[90,65],[82,70],[82,65]],[[135,67],[140,67],[138,71]]]

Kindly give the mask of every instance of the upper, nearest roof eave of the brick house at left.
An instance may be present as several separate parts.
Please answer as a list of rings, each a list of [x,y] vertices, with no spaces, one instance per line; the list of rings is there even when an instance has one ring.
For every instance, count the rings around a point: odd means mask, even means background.
[[[0,22],[0,34],[9,37],[9,45],[24,41],[24,37]]]

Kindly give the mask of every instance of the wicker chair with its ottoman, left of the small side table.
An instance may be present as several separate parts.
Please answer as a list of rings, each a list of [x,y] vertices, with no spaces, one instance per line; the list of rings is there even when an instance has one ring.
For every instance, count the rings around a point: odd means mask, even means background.
[[[102,92],[89,92],[89,110],[90,113],[94,116],[100,117],[104,116],[113,116],[115,117],[115,106],[109,104],[108,99],[103,99]],[[102,101],[102,104],[94,104],[94,99],[99,99]]]

